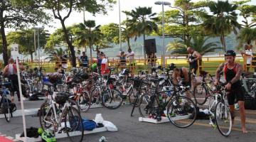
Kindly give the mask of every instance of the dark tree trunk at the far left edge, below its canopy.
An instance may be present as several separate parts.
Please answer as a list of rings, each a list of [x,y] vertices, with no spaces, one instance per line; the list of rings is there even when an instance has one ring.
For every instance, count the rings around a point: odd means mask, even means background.
[[[6,40],[6,35],[5,35],[5,31],[4,31],[4,20],[3,20],[3,11],[1,11],[0,13],[0,18],[1,18],[1,23],[0,23],[0,26],[1,26],[1,40],[2,40],[2,43],[3,43],[3,59],[4,59],[4,65],[8,65],[8,60],[9,60],[9,57],[8,57],[8,50],[7,50],[7,40]]]

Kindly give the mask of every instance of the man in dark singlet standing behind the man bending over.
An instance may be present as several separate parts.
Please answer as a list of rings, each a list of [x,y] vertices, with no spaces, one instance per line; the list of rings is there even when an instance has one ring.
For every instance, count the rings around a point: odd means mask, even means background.
[[[196,50],[191,47],[187,48],[188,51],[188,61],[189,62],[189,69],[196,74],[198,70],[198,60],[201,60],[202,56]]]

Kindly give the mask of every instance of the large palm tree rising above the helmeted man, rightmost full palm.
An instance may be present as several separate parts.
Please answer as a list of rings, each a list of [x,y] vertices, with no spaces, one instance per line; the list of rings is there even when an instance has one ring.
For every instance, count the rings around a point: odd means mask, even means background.
[[[206,33],[220,36],[223,50],[226,50],[225,35],[231,31],[237,34],[236,28],[240,28],[238,14],[235,13],[238,6],[228,1],[218,1],[210,2],[209,8],[213,15],[206,15],[203,27]]]

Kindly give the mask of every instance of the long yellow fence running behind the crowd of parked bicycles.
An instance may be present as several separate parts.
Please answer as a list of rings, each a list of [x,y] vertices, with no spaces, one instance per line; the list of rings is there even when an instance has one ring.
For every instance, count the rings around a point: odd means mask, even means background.
[[[255,56],[256,57],[256,56]],[[163,65],[163,59],[166,62],[166,66],[169,65],[170,63],[175,63],[177,67],[189,67],[189,64],[187,62],[186,55],[166,55],[165,58],[159,57],[155,60],[155,62],[151,62],[150,59],[144,59],[142,57],[136,57],[134,59],[135,61],[135,66],[130,65],[129,60],[125,60],[126,63],[120,64],[121,60],[117,58],[108,58],[109,65],[112,67],[117,67],[117,70],[122,69],[124,67],[129,68],[132,72],[136,72],[137,70],[149,70],[151,68],[151,65]],[[21,60],[23,62],[23,65],[28,65],[29,67],[44,67],[48,72],[54,72],[55,67],[60,67],[62,62],[49,62],[47,60],[41,60],[41,62],[38,62],[38,60]],[[96,59],[93,59],[92,62],[96,62]],[[90,61],[89,64],[92,64]],[[218,55],[218,56],[206,56],[204,55],[202,57],[202,62],[198,62],[198,67],[201,68],[201,70],[206,70],[208,72],[215,72],[216,68],[220,63],[225,62],[225,57],[223,55]],[[236,57],[236,62],[239,62],[241,65],[244,65],[245,71],[247,70],[247,67],[250,68],[250,71],[252,71],[253,68],[255,68],[254,62],[256,60],[252,60],[252,63],[250,65],[246,65],[246,58],[242,58],[241,55],[238,55]],[[249,67],[250,66],[250,67]],[[71,67],[70,62],[68,62],[68,68]]]

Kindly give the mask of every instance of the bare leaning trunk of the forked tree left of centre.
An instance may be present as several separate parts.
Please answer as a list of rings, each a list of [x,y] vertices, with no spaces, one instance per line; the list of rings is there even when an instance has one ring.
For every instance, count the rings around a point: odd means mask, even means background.
[[[70,41],[69,37],[68,37],[68,31],[65,28],[65,23],[63,20],[60,20],[61,26],[63,27],[63,32],[64,32],[64,37],[65,40],[68,44],[68,48],[70,49],[71,52],[71,64],[73,67],[76,67],[76,60],[75,60],[75,50],[74,50],[74,46],[72,45],[72,42]]]

